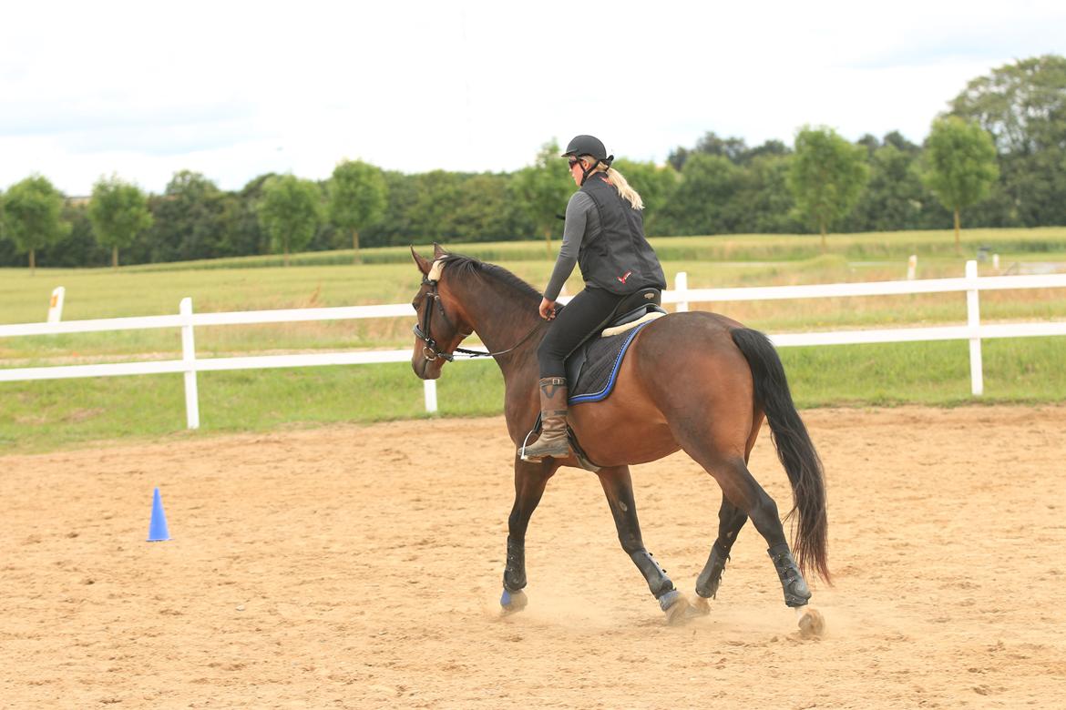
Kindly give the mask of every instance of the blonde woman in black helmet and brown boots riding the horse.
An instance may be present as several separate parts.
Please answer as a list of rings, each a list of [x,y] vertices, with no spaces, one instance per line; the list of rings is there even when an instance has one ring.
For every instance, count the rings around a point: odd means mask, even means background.
[[[580,189],[566,205],[563,245],[540,300],[540,317],[552,320],[537,348],[540,366],[540,437],[522,458],[566,458],[566,369],[563,362],[585,337],[611,316],[619,302],[641,288],[665,288],[666,278],[644,237],[644,201],[621,174],[611,167],[614,155],[599,138],[575,136],[563,153]],[[555,299],[574,265],[581,267],[585,288],[555,311]],[[558,316],[558,317],[556,317]]]

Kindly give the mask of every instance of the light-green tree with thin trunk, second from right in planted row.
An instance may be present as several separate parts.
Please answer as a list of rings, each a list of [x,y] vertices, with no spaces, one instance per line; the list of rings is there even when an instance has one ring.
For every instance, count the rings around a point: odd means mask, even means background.
[[[866,147],[852,145],[830,128],[805,126],[796,134],[789,188],[798,213],[822,234],[823,251],[826,229],[862,195],[870,175],[866,158]]]

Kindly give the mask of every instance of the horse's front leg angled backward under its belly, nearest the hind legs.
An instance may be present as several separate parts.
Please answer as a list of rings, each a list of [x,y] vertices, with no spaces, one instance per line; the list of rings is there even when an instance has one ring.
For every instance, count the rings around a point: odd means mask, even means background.
[[[666,576],[666,571],[644,548],[641,524],[636,519],[636,503],[633,501],[633,481],[629,476],[629,466],[601,468],[598,475],[603,493],[607,494],[607,501],[611,506],[611,515],[618,530],[621,548],[641,571],[648,589],[659,601],[660,609],[666,612],[667,622],[681,621],[689,608],[688,600],[674,589],[674,582]]]

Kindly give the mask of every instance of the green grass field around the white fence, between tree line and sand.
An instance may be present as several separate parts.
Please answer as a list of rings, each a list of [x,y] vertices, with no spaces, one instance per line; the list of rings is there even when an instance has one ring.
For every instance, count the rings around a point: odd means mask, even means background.
[[[951,232],[830,235],[829,253],[817,236],[752,235],[656,240],[667,279],[687,271],[690,287],[786,285],[898,280],[906,258],[919,255],[919,278],[962,276],[976,245],[1001,254],[1001,269],[1040,262],[1066,270],[1066,229],[967,233],[970,252],[955,255]],[[543,243],[451,245],[543,286],[552,262]],[[1010,247],[1000,248],[1000,247]],[[430,251],[422,248],[423,252]],[[301,254],[289,268],[272,258],[220,260],[112,269],[0,270],[0,324],[41,321],[56,285],[66,287],[65,320],[176,313],[191,296],[197,312],[403,303],[419,275],[406,248]],[[346,262],[346,263],[345,263]],[[983,274],[991,274],[988,262]],[[580,278],[568,283],[580,288]],[[962,324],[963,294],[694,304],[718,310],[768,332],[875,325]],[[983,320],[1066,318],[1062,290],[982,295]],[[308,350],[409,347],[404,318],[197,329],[203,357]],[[1066,399],[1063,339],[988,341],[984,345],[988,402]],[[180,357],[176,330],[79,333],[0,339],[0,368],[120,359]],[[782,348],[801,407],[956,406],[969,395],[967,346],[962,342],[885,346]],[[502,378],[492,363],[449,365],[439,382],[442,415],[498,413]],[[183,432],[180,376],[139,376],[0,383],[0,446],[33,451],[123,437],[204,435],[216,431],[313,426],[425,416],[422,385],[406,364],[201,373],[201,430]]]

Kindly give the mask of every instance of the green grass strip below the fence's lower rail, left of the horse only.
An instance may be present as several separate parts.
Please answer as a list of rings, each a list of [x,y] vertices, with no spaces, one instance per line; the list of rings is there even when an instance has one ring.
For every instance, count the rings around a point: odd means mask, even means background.
[[[407,364],[199,373],[197,389],[207,434],[430,416]],[[449,366],[437,416],[498,414],[502,393],[495,363]],[[189,435],[181,375],[0,382],[0,402],[5,452]]]

